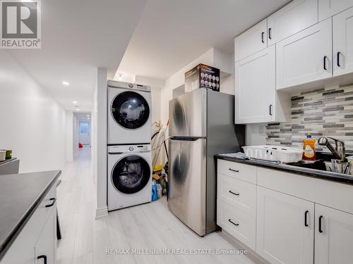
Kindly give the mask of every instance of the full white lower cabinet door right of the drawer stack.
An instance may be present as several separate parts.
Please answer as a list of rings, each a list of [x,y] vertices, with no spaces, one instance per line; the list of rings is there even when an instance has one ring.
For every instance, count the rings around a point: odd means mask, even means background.
[[[313,263],[314,204],[257,188],[256,253],[273,264]]]

